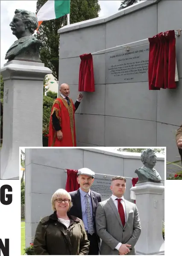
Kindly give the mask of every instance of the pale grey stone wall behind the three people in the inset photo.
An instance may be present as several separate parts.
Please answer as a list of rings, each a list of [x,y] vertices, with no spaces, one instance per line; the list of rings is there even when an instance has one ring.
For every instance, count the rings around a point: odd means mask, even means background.
[[[140,153],[125,155],[125,152],[107,152],[98,148],[75,148],[26,149],[25,154],[26,246],[29,246],[31,238],[34,237],[39,220],[52,213],[50,201],[53,193],[59,188],[65,189],[67,179],[65,169],[78,170],[86,167],[93,170],[96,175],[91,189],[100,193],[102,200],[112,195],[109,190],[112,176],[124,176],[126,177],[124,198],[133,202],[130,200],[131,178],[137,178],[135,170],[142,166]],[[157,154],[155,168],[164,184],[164,156]],[[164,194],[162,198],[164,220]]]

